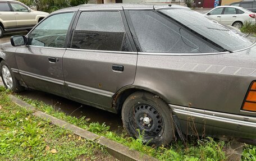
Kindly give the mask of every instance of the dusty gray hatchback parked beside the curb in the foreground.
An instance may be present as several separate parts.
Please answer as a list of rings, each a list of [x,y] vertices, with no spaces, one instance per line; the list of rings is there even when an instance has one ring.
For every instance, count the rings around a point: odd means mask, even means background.
[[[6,88],[121,113],[129,135],[150,144],[182,133],[256,137],[255,39],[189,8],[66,8],[11,43],[0,47]]]

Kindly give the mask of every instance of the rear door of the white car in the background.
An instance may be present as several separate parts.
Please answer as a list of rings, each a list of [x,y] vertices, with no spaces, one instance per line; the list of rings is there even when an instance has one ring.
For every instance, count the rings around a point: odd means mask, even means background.
[[[223,15],[221,17],[221,24],[223,25],[232,25],[233,22],[238,19],[239,14],[236,14],[236,8],[225,7]]]

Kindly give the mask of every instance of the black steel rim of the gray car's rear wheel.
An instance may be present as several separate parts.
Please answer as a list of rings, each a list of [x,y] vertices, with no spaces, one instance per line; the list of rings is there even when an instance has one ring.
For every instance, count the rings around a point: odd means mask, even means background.
[[[130,113],[130,124],[136,135],[145,140],[156,139],[163,134],[163,119],[161,114],[149,104],[137,104]],[[140,133],[137,130],[140,130]]]

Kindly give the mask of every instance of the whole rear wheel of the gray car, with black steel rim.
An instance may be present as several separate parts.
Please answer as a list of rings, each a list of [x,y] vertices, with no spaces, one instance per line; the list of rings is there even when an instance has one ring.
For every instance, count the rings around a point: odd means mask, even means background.
[[[159,96],[144,91],[125,100],[122,122],[130,136],[142,136],[148,145],[168,145],[175,134],[171,109]]]

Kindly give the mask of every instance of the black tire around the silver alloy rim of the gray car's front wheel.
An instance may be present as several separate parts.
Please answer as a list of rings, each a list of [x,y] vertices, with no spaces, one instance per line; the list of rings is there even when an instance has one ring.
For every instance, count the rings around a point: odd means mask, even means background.
[[[10,75],[11,75],[11,79],[12,79],[12,86],[10,86],[10,84],[8,84],[6,82],[6,80],[4,80],[4,78],[3,78],[3,73],[2,73],[3,68],[6,68],[6,67],[10,71]],[[9,89],[15,93],[18,93],[18,92],[24,90],[24,88],[19,84],[19,81],[15,78],[15,76],[13,75],[13,72],[11,71],[10,67],[8,67],[8,65],[6,64],[5,61],[1,61],[1,63],[0,63],[0,76],[2,77],[2,81],[3,81],[3,84],[6,89]]]

